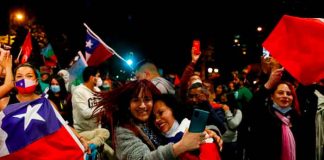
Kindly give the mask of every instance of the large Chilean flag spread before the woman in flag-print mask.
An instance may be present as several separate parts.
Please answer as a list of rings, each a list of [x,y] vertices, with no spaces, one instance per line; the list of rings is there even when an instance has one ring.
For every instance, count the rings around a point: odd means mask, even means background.
[[[83,160],[83,150],[45,97],[11,104],[0,112],[0,160]]]

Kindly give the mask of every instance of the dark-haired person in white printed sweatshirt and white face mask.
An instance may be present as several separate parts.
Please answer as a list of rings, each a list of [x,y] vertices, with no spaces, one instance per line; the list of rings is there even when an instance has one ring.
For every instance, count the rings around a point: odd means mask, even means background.
[[[113,156],[113,150],[106,143],[109,131],[101,128],[96,117],[93,116],[99,97],[96,96],[95,87],[100,83],[99,68],[88,66],[82,73],[84,82],[77,86],[72,93],[73,127],[76,131],[87,138],[90,143],[97,147],[103,146],[106,157]]]

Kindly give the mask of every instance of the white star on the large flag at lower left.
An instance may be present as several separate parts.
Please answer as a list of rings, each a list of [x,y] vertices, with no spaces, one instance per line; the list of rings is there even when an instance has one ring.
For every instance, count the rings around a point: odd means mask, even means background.
[[[43,117],[41,117],[37,112],[40,109],[40,107],[42,106],[42,103],[40,104],[36,104],[34,105],[34,107],[32,107],[31,105],[27,106],[27,111],[24,114],[19,114],[19,115],[15,115],[13,117],[16,118],[23,118],[25,117],[25,123],[24,123],[24,130],[27,129],[28,125],[30,124],[31,120],[35,119],[35,120],[39,120],[39,121],[44,121]]]

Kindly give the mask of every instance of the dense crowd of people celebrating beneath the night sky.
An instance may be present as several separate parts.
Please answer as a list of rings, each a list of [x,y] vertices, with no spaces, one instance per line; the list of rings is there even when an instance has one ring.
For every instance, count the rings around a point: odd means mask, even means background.
[[[13,68],[10,52],[0,51],[0,110],[40,98],[46,91],[40,83],[46,83],[48,99],[87,154],[94,144],[103,159],[324,158],[324,80],[303,86],[271,56],[261,57],[258,83],[245,71],[221,83],[200,77],[195,72],[200,54],[192,50],[178,86],[152,62],[136,69],[136,80],[119,85],[88,66],[84,82],[73,86],[64,69],[38,76],[29,63]],[[188,131],[196,108],[209,112],[201,133]]]

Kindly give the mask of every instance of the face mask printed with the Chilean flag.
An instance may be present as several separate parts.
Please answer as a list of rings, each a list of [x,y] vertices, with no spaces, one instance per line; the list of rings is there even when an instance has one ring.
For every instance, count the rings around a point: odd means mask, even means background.
[[[21,79],[16,82],[16,89],[20,94],[31,94],[36,90],[36,81]]]

